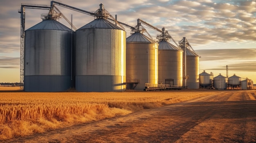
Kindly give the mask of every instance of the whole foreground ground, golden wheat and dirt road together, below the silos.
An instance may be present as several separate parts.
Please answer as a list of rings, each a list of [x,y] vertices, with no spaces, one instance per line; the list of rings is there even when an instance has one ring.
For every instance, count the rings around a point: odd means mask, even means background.
[[[255,90],[0,92],[0,141],[253,143],[255,98]]]

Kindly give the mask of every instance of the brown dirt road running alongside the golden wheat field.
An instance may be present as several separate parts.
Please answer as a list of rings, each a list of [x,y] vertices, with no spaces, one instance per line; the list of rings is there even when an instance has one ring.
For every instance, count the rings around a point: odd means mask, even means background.
[[[256,143],[256,92],[216,95],[7,143]]]

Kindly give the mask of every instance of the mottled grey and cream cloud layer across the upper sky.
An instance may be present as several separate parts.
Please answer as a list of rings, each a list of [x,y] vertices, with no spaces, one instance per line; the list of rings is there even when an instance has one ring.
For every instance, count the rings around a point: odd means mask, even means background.
[[[44,0],[38,0],[36,2],[32,0],[24,1],[25,3],[50,4],[50,2]],[[0,26],[0,30],[4,31],[1,32],[0,37],[5,37],[5,39],[9,39],[8,42],[11,42],[11,37],[17,36],[15,40],[12,40],[17,41],[16,46],[19,44],[18,35],[20,28],[17,26],[20,20],[17,11],[20,9],[19,2],[21,3],[22,0],[18,0],[18,2],[3,0],[1,1],[2,4],[15,5],[16,9],[3,7],[0,10],[1,13],[4,13],[1,17],[6,18],[4,20],[5,22],[1,24],[2,28]],[[99,9],[99,4],[102,1],[96,0],[92,3],[85,4],[83,0],[76,0],[74,3],[63,0],[63,3],[87,11],[96,11]],[[163,26],[166,27],[169,33],[174,33],[173,37],[177,40],[181,37],[187,37],[188,39],[193,39],[191,43],[195,44],[255,40],[255,33],[253,31],[256,30],[254,24],[256,22],[254,15],[256,12],[256,2],[254,1],[232,2],[224,0],[222,2],[215,2],[211,0],[176,0],[168,2],[167,0],[131,0],[126,2],[113,0],[103,2],[103,4],[113,16],[117,14],[118,20],[121,22],[135,26],[137,24],[137,18],[140,18],[153,26],[157,26],[159,29]],[[82,13],[62,7],[59,7],[59,9],[66,17],[69,17],[72,13],[74,14],[73,22],[76,28],[80,28],[93,20],[92,17]],[[9,11],[10,13],[4,11]],[[47,12],[45,10],[34,9],[26,9],[26,11],[27,28],[41,21],[40,13]],[[14,14],[15,16],[13,16]],[[61,20],[61,22],[67,23],[65,20]],[[189,29],[190,27],[193,29]],[[9,31],[5,31],[4,28],[9,29]],[[150,28],[146,27],[146,29]],[[129,28],[126,28],[126,31],[130,33]],[[154,34],[152,34],[153,37],[156,36]],[[0,45],[0,48],[6,45]]]

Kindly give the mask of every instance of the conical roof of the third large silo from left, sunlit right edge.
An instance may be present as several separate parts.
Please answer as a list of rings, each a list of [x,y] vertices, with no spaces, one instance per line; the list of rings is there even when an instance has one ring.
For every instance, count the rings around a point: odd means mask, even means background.
[[[155,43],[154,40],[150,39],[144,34],[139,32],[133,33],[129,37],[126,38],[126,42],[146,42],[146,43]]]

